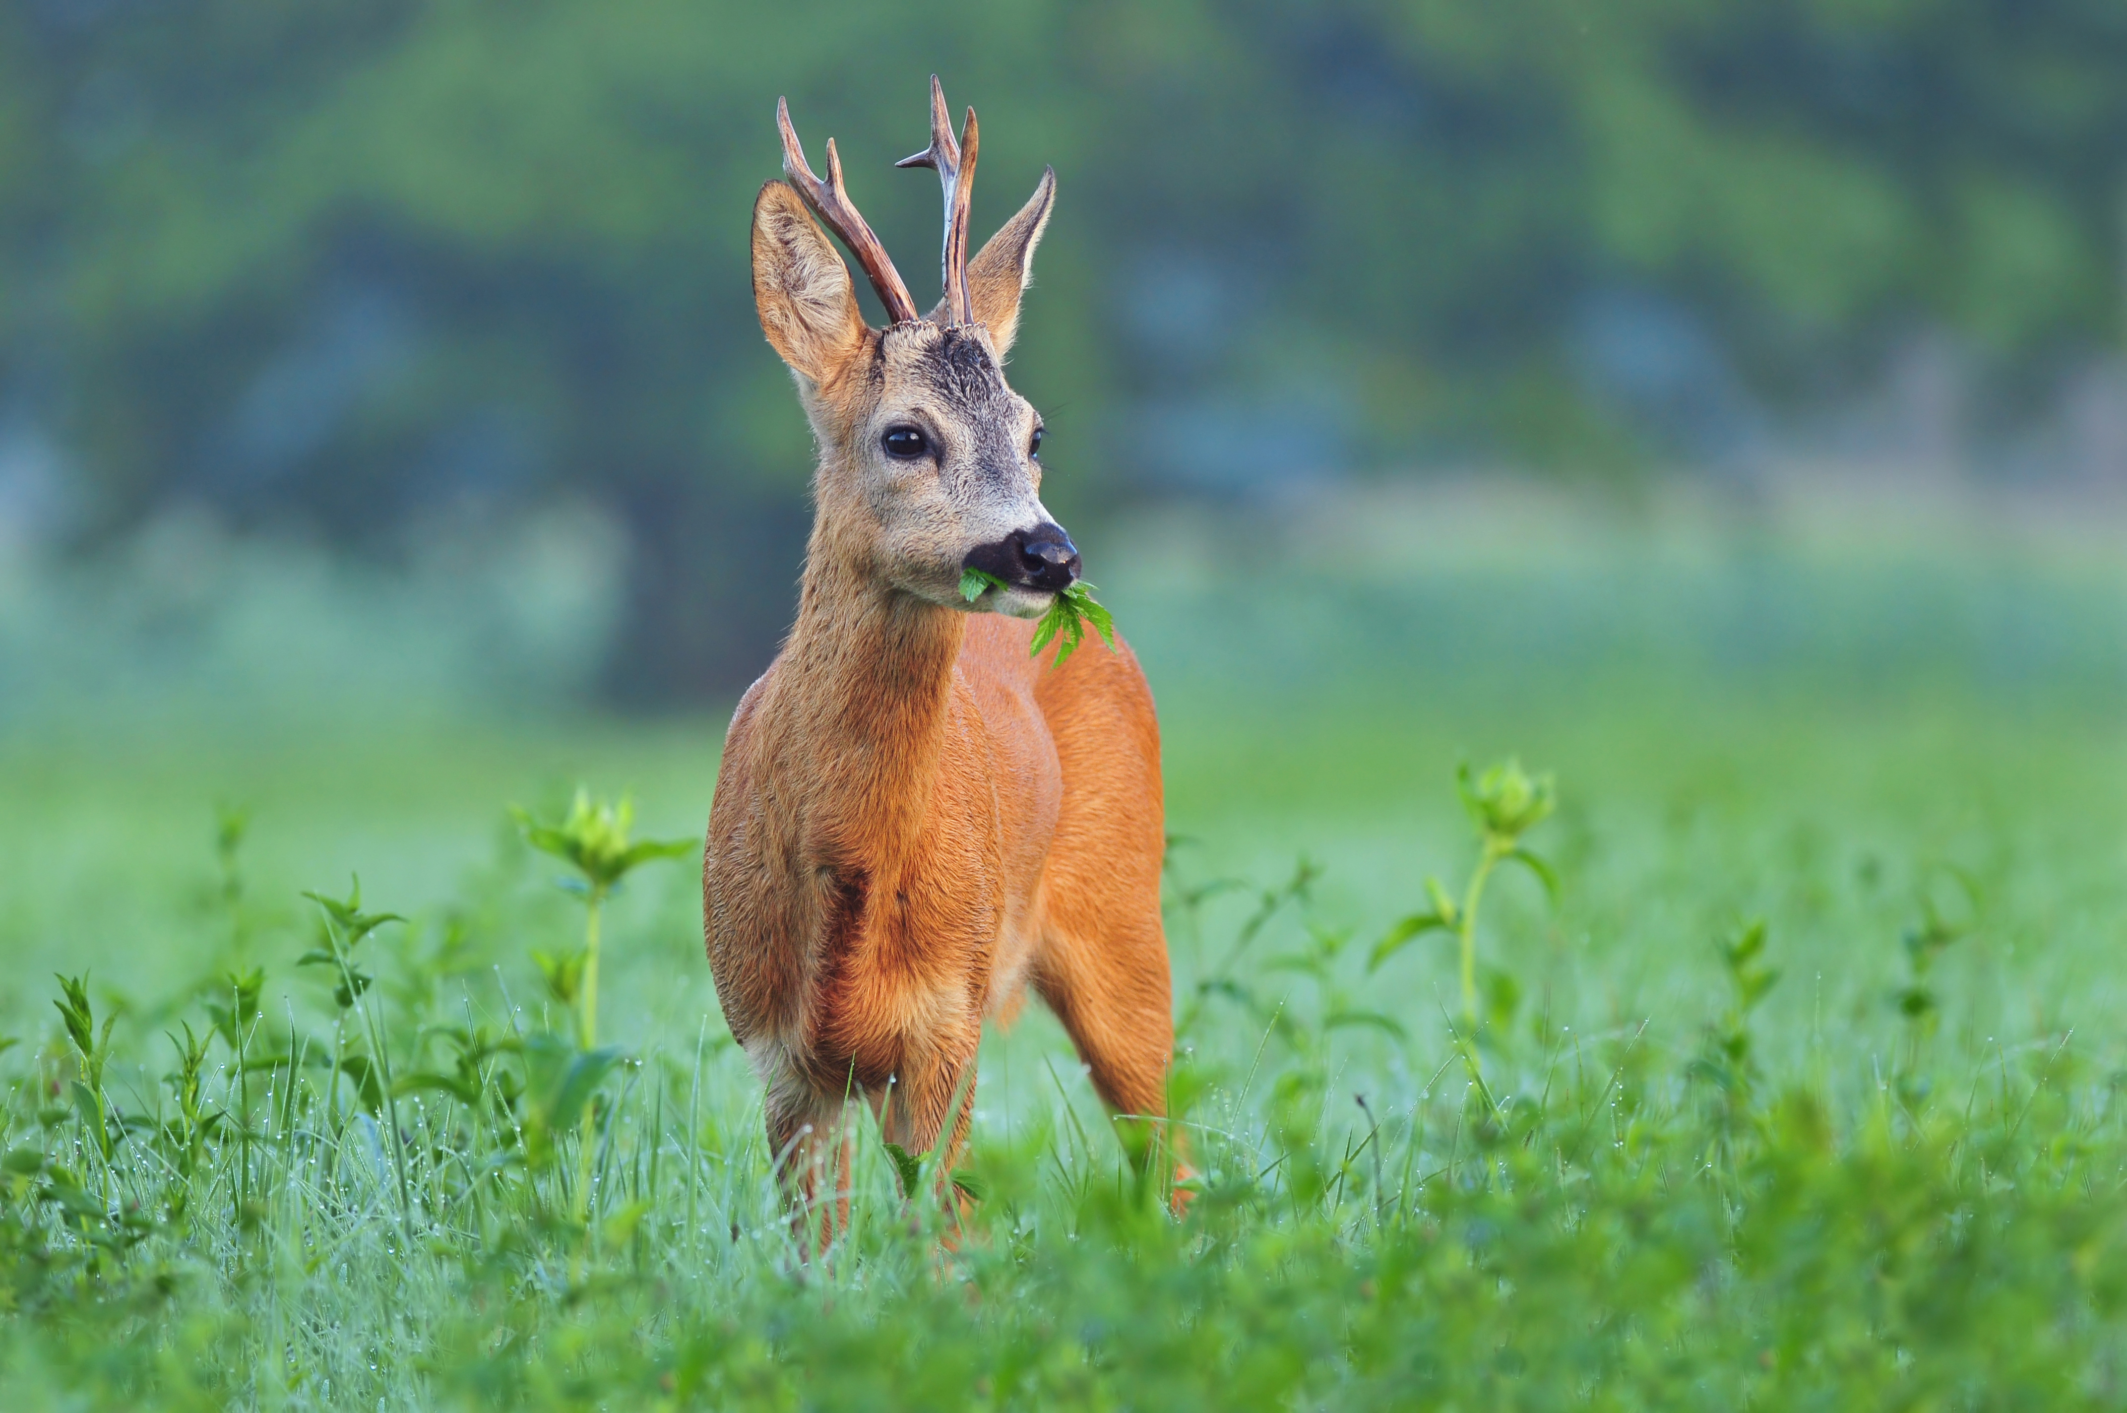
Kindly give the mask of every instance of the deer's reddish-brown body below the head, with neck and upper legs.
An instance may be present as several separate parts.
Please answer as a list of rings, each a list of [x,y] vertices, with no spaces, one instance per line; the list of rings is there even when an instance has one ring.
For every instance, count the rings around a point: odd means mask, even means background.
[[[1159,728],[1129,647],[1051,668],[1032,624],[836,579],[808,570],[732,719],[704,866],[717,994],[776,1149],[817,1158],[804,1128],[823,1138],[844,1094],[927,1149],[961,1092],[957,1147],[983,1017],[1029,981],[1102,1098],[1163,1115]]]

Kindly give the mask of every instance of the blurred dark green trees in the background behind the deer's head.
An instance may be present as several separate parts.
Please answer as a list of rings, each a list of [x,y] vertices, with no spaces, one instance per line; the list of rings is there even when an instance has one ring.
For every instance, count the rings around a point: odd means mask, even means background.
[[[1068,517],[1604,464],[1619,387],[1806,402],[1916,326],[2012,368],[2118,336],[2114,0],[9,0],[0,419],[62,438],[85,541],[189,498],[389,551],[596,498],[613,689],[725,692],[806,521],[744,272],[774,98],[925,289],[887,162],[932,70],[985,115],[981,232],[1061,174],[1015,379]]]

